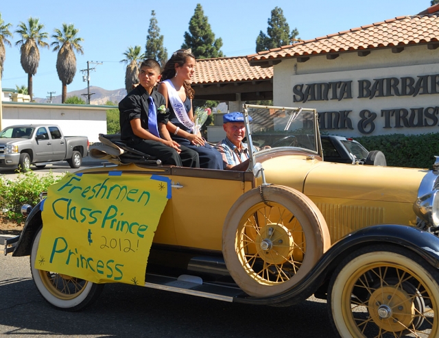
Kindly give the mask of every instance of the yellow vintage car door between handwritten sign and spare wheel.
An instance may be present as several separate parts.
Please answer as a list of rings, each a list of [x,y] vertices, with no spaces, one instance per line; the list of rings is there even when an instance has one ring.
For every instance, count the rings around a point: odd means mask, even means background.
[[[176,245],[221,251],[224,219],[235,201],[252,188],[252,173],[172,167],[169,178],[172,197],[167,208],[172,212]]]

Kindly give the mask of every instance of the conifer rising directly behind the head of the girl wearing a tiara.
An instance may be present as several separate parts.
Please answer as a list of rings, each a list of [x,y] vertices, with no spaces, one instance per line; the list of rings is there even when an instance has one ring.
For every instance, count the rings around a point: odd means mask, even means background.
[[[189,21],[189,32],[185,32],[185,43],[182,49],[192,49],[195,58],[221,58],[224,56],[219,49],[222,47],[222,38],[215,39],[211,25],[204,16],[200,3],[197,3],[195,12]]]

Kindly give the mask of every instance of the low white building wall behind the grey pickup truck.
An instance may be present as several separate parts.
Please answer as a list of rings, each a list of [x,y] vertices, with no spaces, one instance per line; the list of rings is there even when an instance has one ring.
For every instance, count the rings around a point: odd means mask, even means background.
[[[106,134],[108,106],[66,104],[24,104],[3,102],[1,128],[16,124],[48,123],[59,125],[65,136],[87,136],[91,143]]]

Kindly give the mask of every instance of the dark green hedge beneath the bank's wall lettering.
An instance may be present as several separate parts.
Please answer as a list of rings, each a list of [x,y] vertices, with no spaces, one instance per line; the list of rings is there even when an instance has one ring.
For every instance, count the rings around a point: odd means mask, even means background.
[[[431,169],[434,156],[439,156],[439,133],[355,138],[366,149],[381,150],[388,166]]]

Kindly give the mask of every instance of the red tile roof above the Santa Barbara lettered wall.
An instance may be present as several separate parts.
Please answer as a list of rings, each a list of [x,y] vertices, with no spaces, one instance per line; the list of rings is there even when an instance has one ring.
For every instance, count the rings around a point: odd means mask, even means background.
[[[431,8],[436,8],[436,5]],[[381,47],[401,47],[437,41],[439,41],[438,12],[429,15],[398,16],[394,19],[349,29],[337,34],[300,41],[294,45],[261,51],[249,55],[247,58],[252,64],[257,64],[258,61],[268,59],[313,56]]]

